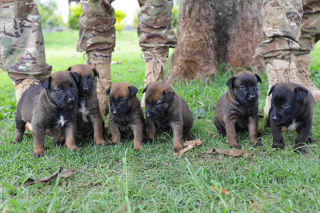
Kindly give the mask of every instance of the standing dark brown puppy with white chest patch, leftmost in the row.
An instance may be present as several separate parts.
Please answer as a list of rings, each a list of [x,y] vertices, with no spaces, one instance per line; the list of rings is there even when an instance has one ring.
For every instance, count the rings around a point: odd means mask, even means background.
[[[33,156],[44,153],[46,129],[62,128],[66,146],[71,150],[81,149],[75,144],[75,114],[77,111],[77,87],[79,75],[70,71],[58,71],[45,76],[40,84],[26,90],[19,100],[15,113],[15,142],[21,142],[24,125],[33,128]]]

